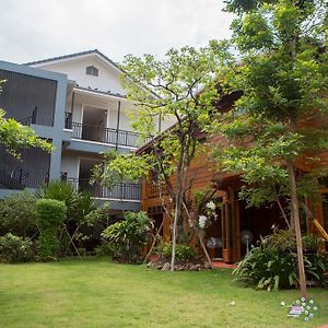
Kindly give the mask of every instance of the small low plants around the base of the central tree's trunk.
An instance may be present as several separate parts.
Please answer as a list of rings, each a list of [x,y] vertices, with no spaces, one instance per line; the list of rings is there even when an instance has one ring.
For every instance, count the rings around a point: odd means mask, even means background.
[[[175,247],[175,257],[178,261],[188,261],[196,258],[195,249],[190,245],[177,244]],[[156,254],[165,260],[171,260],[172,243],[160,241],[156,246]]]

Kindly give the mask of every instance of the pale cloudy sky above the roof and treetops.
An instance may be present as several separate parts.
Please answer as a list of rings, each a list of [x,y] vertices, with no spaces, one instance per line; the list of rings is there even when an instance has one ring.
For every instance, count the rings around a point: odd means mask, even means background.
[[[0,0],[0,60],[97,48],[114,61],[229,38],[223,0]]]

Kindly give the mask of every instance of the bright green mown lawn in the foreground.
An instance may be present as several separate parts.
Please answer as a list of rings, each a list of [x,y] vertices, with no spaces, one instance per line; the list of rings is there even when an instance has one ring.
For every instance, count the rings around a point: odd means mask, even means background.
[[[231,270],[162,272],[108,259],[0,265],[0,327],[316,327],[328,323],[328,290],[312,323],[286,317],[298,291],[244,289]],[[235,306],[229,305],[235,301]]]

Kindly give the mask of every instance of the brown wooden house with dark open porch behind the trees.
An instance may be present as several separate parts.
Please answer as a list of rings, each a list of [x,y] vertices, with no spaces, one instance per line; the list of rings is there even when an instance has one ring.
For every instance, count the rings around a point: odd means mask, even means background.
[[[238,98],[237,94],[226,95],[221,98],[218,109],[227,112],[232,108],[234,101]],[[319,126],[327,120],[320,116],[307,117],[302,121],[302,126]],[[160,136],[159,136],[160,137]],[[249,249],[250,245],[256,245],[261,236],[272,232],[272,226],[285,229],[285,220],[282,218],[279,206],[273,204],[270,208],[249,208],[246,202],[238,199],[238,192],[243,186],[241,173],[222,173],[211,163],[208,154],[212,144],[225,147],[227,141],[223,136],[204,136],[200,133],[199,139],[203,140],[202,151],[196,156],[190,165],[189,177],[192,179],[191,195],[196,191],[204,190],[210,187],[215,190],[214,198],[221,207],[216,208],[218,219],[210,227],[206,230],[204,241],[208,246],[208,253],[211,259],[222,259],[224,262],[237,262]],[[147,143],[138,152],[151,151],[151,144]],[[328,166],[328,151],[315,154],[320,159],[317,165]],[[313,165],[313,164],[312,164]],[[300,172],[311,172],[314,166],[300,160],[296,163]],[[160,197],[156,175],[150,173],[149,178],[142,181],[141,209],[154,220],[155,227],[161,229],[161,236],[171,238],[171,221],[163,209],[163,201],[168,211],[172,210],[172,201],[167,197],[165,187]],[[172,177],[174,186],[175,176]],[[316,203],[309,204],[317,222],[328,231],[328,180],[320,181],[321,195]],[[189,191],[188,191],[189,192]],[[303,232],[314,232],[318,234],[311,218],[303,216]],[[327,239],[328,242],[328,239]],[[328,243],[326,243],[326,249]]]

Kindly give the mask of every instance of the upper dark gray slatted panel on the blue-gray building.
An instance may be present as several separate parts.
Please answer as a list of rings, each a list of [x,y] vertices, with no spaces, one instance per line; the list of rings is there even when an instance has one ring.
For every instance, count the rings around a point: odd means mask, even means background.
[[[54,126],[56,81],[7,70],[0,70],[1,80],[7,80],[0,93],[0,108],[7,112],[7,117],[24,124]],[[26,120],[34,110],[33,121]]]

